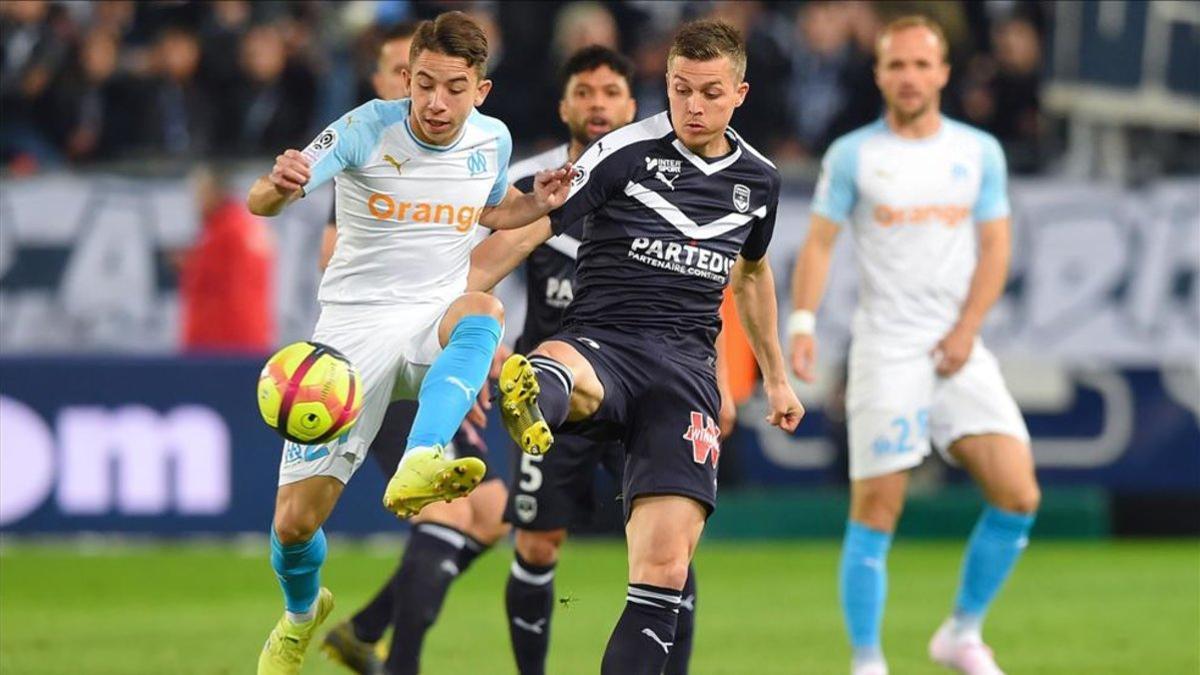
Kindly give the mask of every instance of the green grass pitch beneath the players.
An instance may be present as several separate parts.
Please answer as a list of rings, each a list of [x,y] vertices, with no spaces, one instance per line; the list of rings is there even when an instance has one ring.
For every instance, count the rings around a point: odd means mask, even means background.
[[[324,581],[348,616],[395,554],[332,542]],[[900,540],[890,557],[884,645],[892,671],[940,673],[924,656],[954,593],[961,544]],[[430,633],[430,674],[508,674],[511,554],[485,556]],[[838,545],[706,542],[694,673],[845,673],[834,585]],[[572,542],[557,590],[550,673],[598,671],[623,603],[624,550]],[[259,546],[12,544],[0,554],[0,673],[251,673],[280,611]],[[1200,546],[1034,542],[986,635],[1009,673],[1200,671]],[[306,673],[338,673],[316,652]]]

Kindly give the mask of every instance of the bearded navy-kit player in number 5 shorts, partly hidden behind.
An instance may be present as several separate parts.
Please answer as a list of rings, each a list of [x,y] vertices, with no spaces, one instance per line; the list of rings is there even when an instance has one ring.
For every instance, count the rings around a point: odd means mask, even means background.
[[[634,119],[636,102],[630,90],[634,65],[620,54],[593,46],[576,52],[563,66],[563,97],[559,115],[570,131],[570,142],[514,165],[509,177],[521,190],[530,190],[533,173],[574,162],[584,148]],[[502,245],[504,233],[480,246]],[[527,310],[524,330],[516,351],[527,353],[556,334],[574,298],[575,261],[582,237],[582,222],[571,223],[527,259]],[[517,454],[510,484],[505,520],[516,528],[515,560],[505,591],[509,634],[521,675],[546,671],[551,617],[554,605],[554,567],[568,527],[590,513],[596,466],[618,482],[625,450],[617,440],[560,434],[554,452],[546,455]],[[689,575],[680,613],[676,647],[667,674],[684,674],[691,655],[695,622],[695,580]]]

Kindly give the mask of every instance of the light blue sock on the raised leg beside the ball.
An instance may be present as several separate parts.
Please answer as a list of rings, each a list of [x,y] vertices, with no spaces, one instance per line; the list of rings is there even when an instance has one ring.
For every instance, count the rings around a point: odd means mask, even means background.
[[[445,446],[475,402],[500,344],[500,322],[487,315],[464,316],[433,362],[418,394],[416,419],[408,448]]]

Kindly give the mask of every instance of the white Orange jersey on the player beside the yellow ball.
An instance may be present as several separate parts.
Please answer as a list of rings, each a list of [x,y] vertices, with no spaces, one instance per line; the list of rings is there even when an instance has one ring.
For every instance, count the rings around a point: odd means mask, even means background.
[[[364,103],[304,149],[306,190],[335,178],[337,246],[322,303],[450,301],[467,289],[479,216],[508,191],[512,138],[474,110],[452,143],[422,143],[409,100]]]

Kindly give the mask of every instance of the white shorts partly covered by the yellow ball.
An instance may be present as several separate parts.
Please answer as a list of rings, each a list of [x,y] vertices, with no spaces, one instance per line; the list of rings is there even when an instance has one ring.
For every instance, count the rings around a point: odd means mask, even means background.
[[[312,476],[343,484],[362,466],[388,404],[416,399],[421,381],[442,353],[438,323],[450,304],[322,305],[312,340],[346,354],[359,371],[362,411],[348,434],[319,446],[283,443],[280,485]]]

